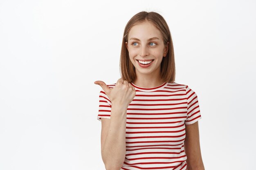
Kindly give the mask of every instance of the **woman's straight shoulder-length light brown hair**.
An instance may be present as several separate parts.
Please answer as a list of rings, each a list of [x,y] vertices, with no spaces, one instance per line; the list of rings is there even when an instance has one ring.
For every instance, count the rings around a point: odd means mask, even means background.
[[[126,42],[128,41],[128,34],[136,24],[148,21],[152,23],[161,33],[164,40],[164,45],[168,44],[168,53],[166,57],[163,57],[161,62],[161,78],[164,82],[175,81],[175,61],[173,52],[173,41],[171,38],[170,29],[159,13],[141,11],[134,15],[126,24],[124,29],[124,36],[121,47],[120,56],[120,71],[121,77],[127,82],[131,83],[136,79],[135,66],[132,64],[129,58],[129,52],[126,48]],[[169,43],[168,43],[169,42]]]

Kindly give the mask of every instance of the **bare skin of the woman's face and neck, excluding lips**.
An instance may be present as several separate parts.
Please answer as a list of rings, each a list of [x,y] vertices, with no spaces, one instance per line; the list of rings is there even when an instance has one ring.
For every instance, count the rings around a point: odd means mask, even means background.
[[[157,37],[158,40],[148,40]],[[130,40],[137,38],[139,40]],[[137,79],[133,82],[137,86],[151,88],[164,83],[161,79],[161,62],[168,53],[168,45],[164,45],[160,31],[153,24],[146,21],[132,27],[128,34],[126,48],[129,52],[130,61],[135,66]],[[148,68],[139,66],[137,60],[152,60],[153,63]]]

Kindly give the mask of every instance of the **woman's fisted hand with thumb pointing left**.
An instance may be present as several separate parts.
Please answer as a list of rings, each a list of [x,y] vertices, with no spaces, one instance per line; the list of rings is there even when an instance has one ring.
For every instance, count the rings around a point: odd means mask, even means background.
[[[94,84],[98,84],[103,88],[112,105],[117,105],[121,108],[127,109],[136,95],[135,88],[123,78],[117,80],[114,88],[109,88],[102,81],[96,81]]]

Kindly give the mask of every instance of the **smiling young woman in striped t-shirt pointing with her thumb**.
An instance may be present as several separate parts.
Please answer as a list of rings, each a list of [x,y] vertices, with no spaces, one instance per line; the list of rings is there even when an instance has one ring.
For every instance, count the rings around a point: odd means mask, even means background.
[[[142,11],[127,23],[121,78],[99,93],[101,156],[106,170],[204,170],[198,98],[175,81],[164,18]]]

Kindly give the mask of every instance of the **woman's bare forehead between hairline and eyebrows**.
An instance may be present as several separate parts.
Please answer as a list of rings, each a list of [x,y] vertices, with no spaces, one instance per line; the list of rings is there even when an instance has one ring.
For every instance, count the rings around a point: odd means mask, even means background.
[[[140,40],[148,40],[148,38],[151,37],[157,37],[160,40],[162,39],[160,31],[148,21],[132,26],[128,34],[128,40],[131,37],[138,38]]]

